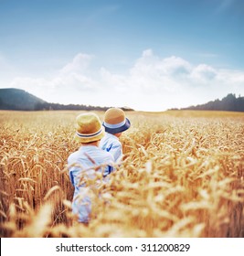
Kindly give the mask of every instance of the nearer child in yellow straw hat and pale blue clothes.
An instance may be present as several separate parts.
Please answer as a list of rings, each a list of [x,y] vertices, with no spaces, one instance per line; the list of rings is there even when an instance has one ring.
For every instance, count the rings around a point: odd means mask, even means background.
[[[81,146],[68,158],[69,178],[75,187],[72,212],[78,216],[79,222],[88,223],[91,212],[88,193],[92,187],[98,186],[102,176],[111,173],[113,158],[110,153],[99,148],[104,128],[95,113],[81,113],[76,118],[76,123],[75,137]],[[87,187],[88,183],[90,187]]]

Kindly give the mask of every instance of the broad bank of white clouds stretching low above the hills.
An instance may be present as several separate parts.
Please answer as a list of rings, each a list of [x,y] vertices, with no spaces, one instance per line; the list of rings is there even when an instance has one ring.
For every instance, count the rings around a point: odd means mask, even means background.
[[[130,106],[163,111],[244,94],[244,71],[193,65],[179,57],[160,58],[143,51],[127,75],[93,69],[93,56],[79,53],[52,78],[18,77],[9,87],[21,88],[46,101],[101,106]]]

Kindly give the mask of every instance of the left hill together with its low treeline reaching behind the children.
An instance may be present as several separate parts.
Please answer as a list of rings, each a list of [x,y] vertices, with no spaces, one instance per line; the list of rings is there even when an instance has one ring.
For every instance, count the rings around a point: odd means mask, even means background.
[[[7,88],[0,89],[0,110],[14,111],[43,111],[43,110],[84,110],[84,111],[106,111],[109,107],[59,104],[43,101],[27,91]],[[131,108],[122,108],[124,111],[133,111]]]

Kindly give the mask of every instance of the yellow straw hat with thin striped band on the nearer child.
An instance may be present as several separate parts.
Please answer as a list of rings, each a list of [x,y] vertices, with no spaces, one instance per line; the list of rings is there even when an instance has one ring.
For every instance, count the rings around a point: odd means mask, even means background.
[[[76,118],[75,137],[80,143],[91,143],[101,140],[104,129],[99,117],[93,113],[81,113]]]

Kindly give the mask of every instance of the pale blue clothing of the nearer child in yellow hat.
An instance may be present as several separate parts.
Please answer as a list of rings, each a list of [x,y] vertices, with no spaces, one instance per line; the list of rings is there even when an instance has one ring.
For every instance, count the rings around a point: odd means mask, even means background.
[[[90,188],[86,187],[86,179],[94,179],[96,172],[102,173],[103,177],[108,176],[113,171],[112,164],[111,154],[95,145],[81,146],[78,151],[69,155],[69,178],[75,187],[72,212],[79,217],[80,222],[88,223],[90,220]],[[99,165],[104,166],[96,169]]]

